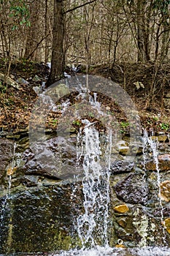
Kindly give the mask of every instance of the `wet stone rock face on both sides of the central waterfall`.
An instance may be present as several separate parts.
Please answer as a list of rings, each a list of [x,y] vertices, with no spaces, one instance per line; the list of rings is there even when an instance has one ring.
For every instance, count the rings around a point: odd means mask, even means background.
[[[160,143],[169,147],[167,138]],[[111,157],[110,246],[164,246],[165,241],[170,246],[170,155],[158,152],[158,172],[152,151],[144,150],[145,158],[141,148],[133,160],[122,151],[115,162]],[[22,138],[15,155],[12,140],[0,138],[0,151],[0,254],[81,246],[76,218],[84,213],[82,169],[77,169],[75,136],[30,148]]]

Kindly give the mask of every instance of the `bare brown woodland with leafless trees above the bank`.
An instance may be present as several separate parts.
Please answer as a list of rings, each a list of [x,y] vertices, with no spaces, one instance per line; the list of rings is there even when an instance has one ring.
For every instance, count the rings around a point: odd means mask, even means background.
[[[120,83],[141,110],[168,118],[169,42],[169,0],[1,0],[1,97],[9,99],[10,75],[27,78],[37,63],[51,62],[50,86],[74,64]]]

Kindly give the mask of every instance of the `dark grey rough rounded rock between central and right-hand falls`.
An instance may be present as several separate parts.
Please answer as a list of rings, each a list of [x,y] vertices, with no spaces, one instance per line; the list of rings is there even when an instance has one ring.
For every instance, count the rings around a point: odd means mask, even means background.
[[[114,186],[117,197],[125,203],[146,204],[149,199],[149,189],[143,176],[130,174]]]

